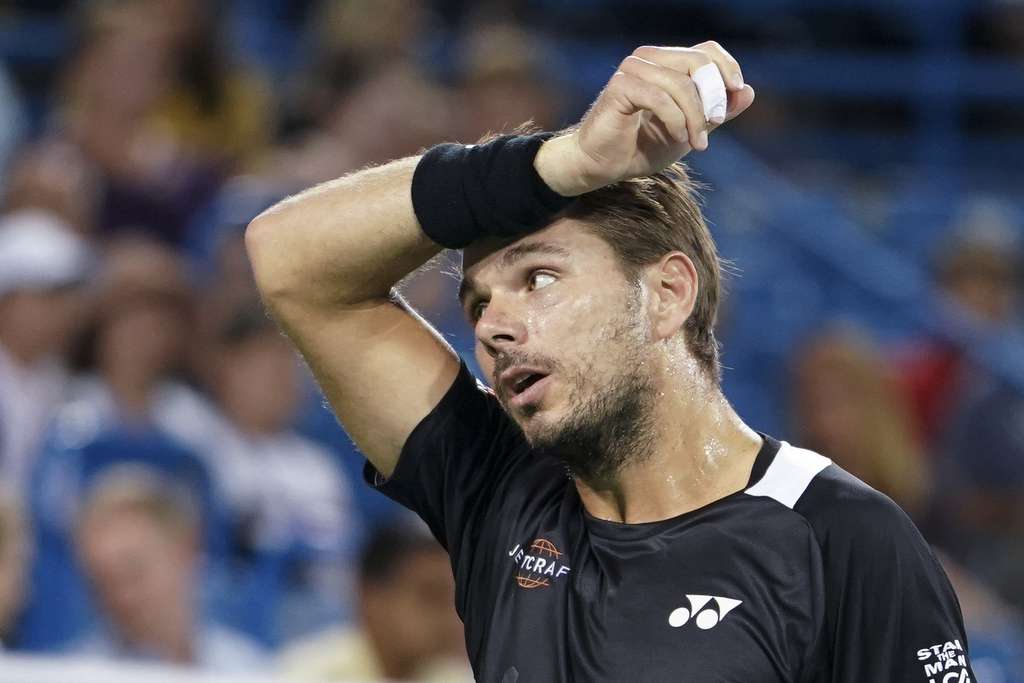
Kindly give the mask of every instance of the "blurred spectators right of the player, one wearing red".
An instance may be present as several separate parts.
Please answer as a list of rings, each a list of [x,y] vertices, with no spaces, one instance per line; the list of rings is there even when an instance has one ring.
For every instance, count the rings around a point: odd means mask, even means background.
[[[1006,228],[992,215],[954,226],[935,250],[934,294],[950,328],[1016,339],[1021,358],[1021,245]],[[1024,680],[1024,387],[970,344],[883,344],[851,321],[792,358],[793,439],[914,520],[959,597],[978,680]]]

